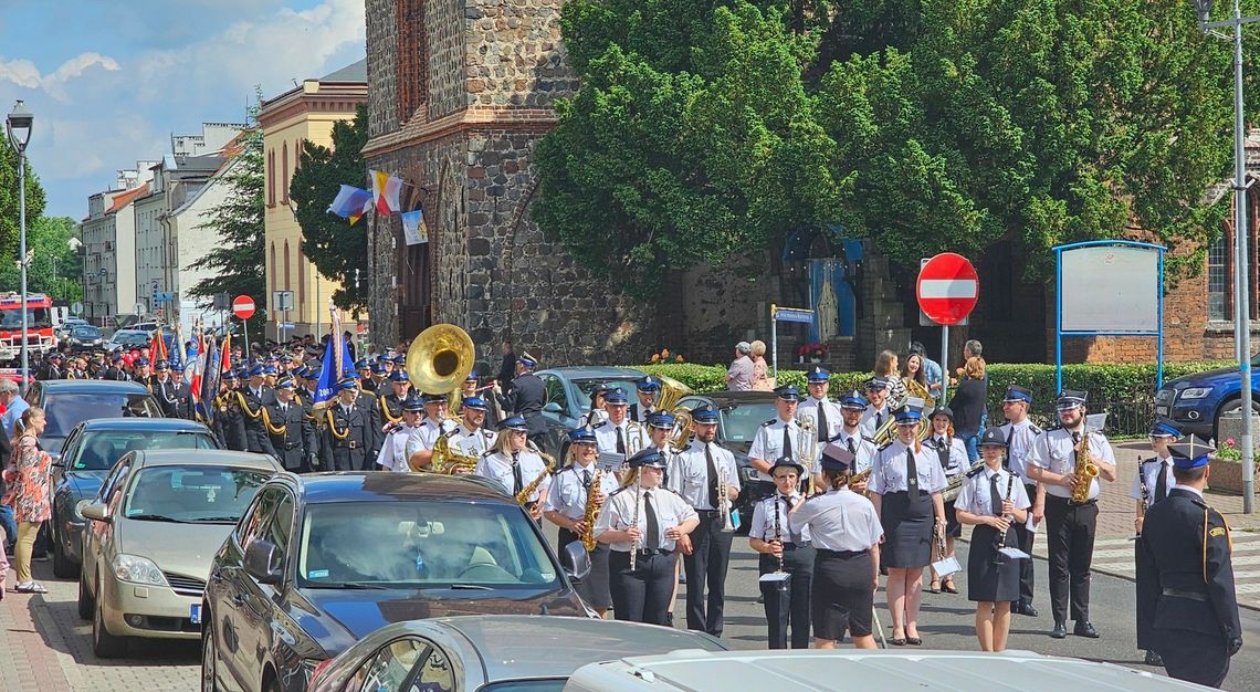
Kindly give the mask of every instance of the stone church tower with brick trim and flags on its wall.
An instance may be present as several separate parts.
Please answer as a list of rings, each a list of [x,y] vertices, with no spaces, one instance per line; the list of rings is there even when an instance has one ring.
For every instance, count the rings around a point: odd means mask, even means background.
[[[367,0],[368,166],[402,178],[430,242],[369,218],[374,343],[462,326],[495,363],[510,337],[544,364],[643,362],[650,309],[573,265],[529,218],[532,154],[573,93],[561,0]],[[407,204],[410,200],[411,204]]]

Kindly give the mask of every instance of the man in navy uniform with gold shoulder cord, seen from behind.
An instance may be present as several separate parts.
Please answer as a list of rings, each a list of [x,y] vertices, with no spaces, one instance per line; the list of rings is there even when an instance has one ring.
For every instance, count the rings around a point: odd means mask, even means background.
[[[1194,435],[1169,446],[1177,484],[1147,510],[1143,547],[1154,568],[1157,650],[1168,676],[1220,687],[1242,648],[1230,527],[1203,502],[1216,451]]]

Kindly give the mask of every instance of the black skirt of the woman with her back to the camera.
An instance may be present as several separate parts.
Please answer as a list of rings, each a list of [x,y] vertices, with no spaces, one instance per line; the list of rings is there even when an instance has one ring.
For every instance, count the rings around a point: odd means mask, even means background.
[[[810,616],[814,637],[839,642],[871,634],[874,613],[874,566],[871,551],[835,552],[819,548],[814,557]]]

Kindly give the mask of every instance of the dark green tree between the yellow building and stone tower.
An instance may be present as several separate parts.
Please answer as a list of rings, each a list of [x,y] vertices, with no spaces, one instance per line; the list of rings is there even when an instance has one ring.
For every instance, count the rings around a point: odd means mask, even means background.
[[[333,303],[343,310],[365,309],[368,282],[354,287],[354,271],[368,274],[367,223],[350,226],[329,213],[328,205],[341,185],[363,185],[367,164],[363,147],[368,144],[368,108],[360,105],[350,122],[333,124],[333,147],[304,142],[301,164],[294,173],[289,195],[297,204],[297,223],[302,228],[302,253],[328,279],[341,287]]]

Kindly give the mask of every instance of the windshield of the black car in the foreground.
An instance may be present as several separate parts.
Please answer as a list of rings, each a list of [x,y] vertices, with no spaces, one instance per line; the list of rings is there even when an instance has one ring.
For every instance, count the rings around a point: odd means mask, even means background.
[[[541,589],[559,577],[520,508],[402,500],[314,504],[302,522],[299,582]]]

